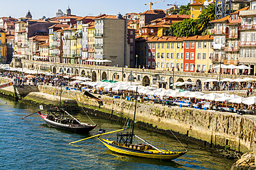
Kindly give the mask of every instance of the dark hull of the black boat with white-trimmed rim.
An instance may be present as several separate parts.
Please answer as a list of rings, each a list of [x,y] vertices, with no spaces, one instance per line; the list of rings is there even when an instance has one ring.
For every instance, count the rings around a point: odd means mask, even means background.
[[[97,125],[87,125],[85,123],[82,123],[82,125],[57,123],[52,120],[48,120],[48,118],[46,118],[44,114],[40,114],[40,116],[44,119],[44,121],[49,127],[55,127],[57,129],[73,131],[79,134],[88,134],[89,131],[93,130],[97,126]]]

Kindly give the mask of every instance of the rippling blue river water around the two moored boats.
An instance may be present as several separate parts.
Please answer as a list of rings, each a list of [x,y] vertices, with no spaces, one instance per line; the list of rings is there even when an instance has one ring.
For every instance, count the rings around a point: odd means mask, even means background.
[[[48,127],[38,114],[20,119],[37,110],[38,106],[0,96],[0,169],[230,169],[234,162],[185,142],[182,144],[188,153],[172,161],[120,156],[109,151],[97,138],[69,145],[68,142],[97,134],[99,128],[112,131],[124,125],[91,117],[98,127],[89,135],[80,135]],[[81,122],[91,123],[84,114],[75,117]],[[184,150],[174,138],[138,127],[135,132],[158,147]],[[115,136],[109,134],[105,138],[114,139]]]

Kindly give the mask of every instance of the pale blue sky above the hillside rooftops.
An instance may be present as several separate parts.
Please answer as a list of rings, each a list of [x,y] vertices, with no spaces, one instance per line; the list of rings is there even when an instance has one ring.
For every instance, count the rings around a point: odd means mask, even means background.
[[[84,17],[86,15],[97,16],[98,14],[121,14],[129,12],[144,12],[149,10],[149,6],[145,6],[145,3],[149,3],[150,0],[0,0],[5,4],[1,6],[0,17],[25,17],[28,10],[30,10],[33,19],[46,17],[55,17],[55,12],[61,9],[66,13],[68,4],[71,8],[71,14]],[[152,0],[152,2],[161,0]],[[155,3],[153,9],[167,9],[170,6],[167,4],[173,4],[177,0],[165,0],[165,2]],[[188,4],[189,0],[179,0],[177,5]]]

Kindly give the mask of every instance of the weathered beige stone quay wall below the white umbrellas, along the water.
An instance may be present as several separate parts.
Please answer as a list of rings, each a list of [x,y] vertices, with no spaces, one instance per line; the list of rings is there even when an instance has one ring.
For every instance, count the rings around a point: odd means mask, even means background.
[[[60,88],[39,85],[39,91],[46,94],[60,94]],[[73,98],[82,106],[96,109],[98,102],[84,96],[80,91],[63,90],[65,98]],[[95,96],[100,96],[95,94]],[[134,101],[100,96],[104,102],[100,108],[110,113],[133,118]],[[251,115],[250,115],[251,116]],[[255,151],[255,120],[248,115],[190,109],[188,107],[167,107],[152,103],[137,103],[136,121],[148,123],[156,129],[179,132],[184,136],[206,141],[210,146],[230,146],[236,151]]]

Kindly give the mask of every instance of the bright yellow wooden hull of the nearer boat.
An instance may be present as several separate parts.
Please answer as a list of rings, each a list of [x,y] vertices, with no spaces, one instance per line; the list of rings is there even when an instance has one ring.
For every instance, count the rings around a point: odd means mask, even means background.
[[[113,141],[105,140],[103,138],[98,137],[100,142],[102,142],[109,150],[120,153],[128,156],[137,156],[142,158],[152,158],[152,159],[161,159],[161,160],[173,160],[183,156],[187,151],[184,152],[165,152],[161,153],[160,151],[147,151],[147,150],[138,150],[138,149],[130,149],[128,147],[121,147],[113,144]]]

